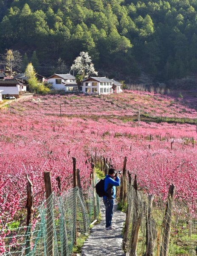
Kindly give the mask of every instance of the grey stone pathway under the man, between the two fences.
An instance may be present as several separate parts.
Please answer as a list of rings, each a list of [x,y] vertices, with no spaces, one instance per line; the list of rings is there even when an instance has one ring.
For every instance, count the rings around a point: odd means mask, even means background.
[[[95,225],[82,247],[82,256],[125,256],[122,250],[122,229],[126,214],[117,209],[115,202],[112,225],[115,230],[105,230],[105,207],[101,199],[101,222]]]

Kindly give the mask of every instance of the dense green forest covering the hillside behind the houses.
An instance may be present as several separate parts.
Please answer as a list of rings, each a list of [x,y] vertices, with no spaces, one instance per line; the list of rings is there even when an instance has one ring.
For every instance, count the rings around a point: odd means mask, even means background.
[[[0,0],[6,49],[44,76],[85,51],[106,75],[186,77],[197,70],[197,0]]]

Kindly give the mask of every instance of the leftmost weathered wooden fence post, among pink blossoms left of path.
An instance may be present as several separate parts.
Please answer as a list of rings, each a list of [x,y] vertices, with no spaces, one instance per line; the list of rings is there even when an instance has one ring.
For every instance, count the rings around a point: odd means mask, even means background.
[[[32,223],[33,223],[33,184],[27,175],[27,230],[26,230],[26,242],[25,242],[25,255],[28,255],[31,251],[31,236],[32,236]]]

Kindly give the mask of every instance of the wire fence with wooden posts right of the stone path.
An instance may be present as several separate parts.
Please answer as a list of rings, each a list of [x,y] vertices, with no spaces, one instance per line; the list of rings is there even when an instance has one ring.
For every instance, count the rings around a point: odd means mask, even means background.
[[[170,200],[146,195],[129,184],[124,232],[127,256],[197,255],[197,218],[191,216],[186,201]]]

